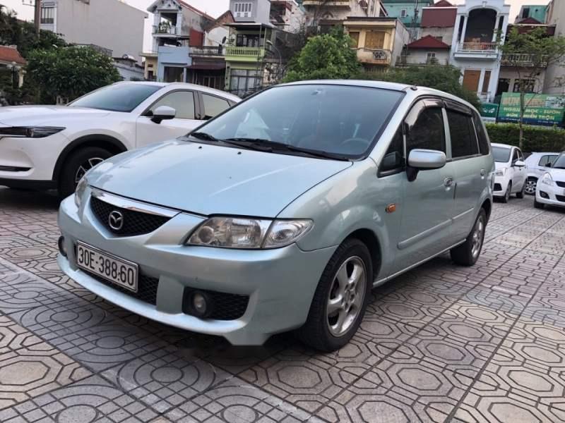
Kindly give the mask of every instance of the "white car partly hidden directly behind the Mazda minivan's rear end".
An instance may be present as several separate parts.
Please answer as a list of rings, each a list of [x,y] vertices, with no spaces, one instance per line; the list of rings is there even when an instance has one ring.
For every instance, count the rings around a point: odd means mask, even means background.
[[[494,189],[492,194],[502,202],[508,202],[510,195],[523,198],[527,171],[522,152],[518,147],[506,144],[492,144],[494,156]]]

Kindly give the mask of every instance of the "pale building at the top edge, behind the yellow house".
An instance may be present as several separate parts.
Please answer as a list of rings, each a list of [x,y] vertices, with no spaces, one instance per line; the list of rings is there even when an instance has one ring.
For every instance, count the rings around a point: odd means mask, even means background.
[[[307,12],[307,25],[327,32],[350,16],[387,16],[381,0],[303,0]]]

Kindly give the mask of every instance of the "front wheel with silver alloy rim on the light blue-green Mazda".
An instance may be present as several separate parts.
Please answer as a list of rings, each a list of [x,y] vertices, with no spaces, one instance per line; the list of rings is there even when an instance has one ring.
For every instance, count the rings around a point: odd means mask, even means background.
[[[307,321],[298,331],[302,342],[328,353],[346,345],[361,324],[372,283],[367,245],[355,238],[345,240],[320,278]]]

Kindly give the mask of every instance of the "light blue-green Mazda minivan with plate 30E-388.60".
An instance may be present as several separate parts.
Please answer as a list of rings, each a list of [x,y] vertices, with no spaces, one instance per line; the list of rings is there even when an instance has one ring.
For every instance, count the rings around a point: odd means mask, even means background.
[[[470,266],[494,159],[473,107],[386,82],[264,90],[177,140],[98,164],[59,212],[61,269],[165,324],[319,350],[371,288],[444,252]]]

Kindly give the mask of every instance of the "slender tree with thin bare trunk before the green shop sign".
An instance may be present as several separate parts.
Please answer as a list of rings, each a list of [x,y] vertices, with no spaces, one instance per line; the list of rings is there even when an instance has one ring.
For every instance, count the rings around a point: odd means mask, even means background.
[[[544,27],[538,27],[528,32],[519,32],[513,27],[506,37],[506,41],[499,42],[502,52],[502,63],[511,66],[518,74],[517,85],[520,92],[520,116],[518,125],[520,127],[519,147],[524,145],[524,113],[529,102],[525,97],[528,93],[539,94],[543,89],[543,81],[540,75],[545,72],[547,66],[559,65],[565,59],[565,37],[547,35]],[[564,78],[549,81],[553,87],[565,85]],[[530,101],[535,98],[531,97]]]

